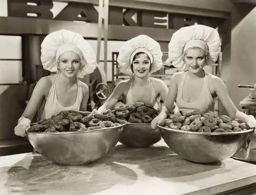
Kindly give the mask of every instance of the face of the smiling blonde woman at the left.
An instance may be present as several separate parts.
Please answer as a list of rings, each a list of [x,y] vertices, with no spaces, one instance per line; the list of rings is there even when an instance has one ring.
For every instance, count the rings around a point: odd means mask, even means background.
[[[59,56],[58,66],[66,77],[75,77],[81,67],[80,57],[74,52],[65,52]]]

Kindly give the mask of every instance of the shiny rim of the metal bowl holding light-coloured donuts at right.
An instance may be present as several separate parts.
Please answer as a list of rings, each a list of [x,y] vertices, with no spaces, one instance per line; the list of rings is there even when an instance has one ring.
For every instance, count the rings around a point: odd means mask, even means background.
[[[171,131],[171,132],[176,132],[176,133],[184,133],[184,134],[197,134],[197,135],[238,135],[238,134],[244,134],[244,133],[250,133],[254,129],[247,129],[239,132],[225,132],[225,133],[205,133],[205,132],[192,132],[192,131],[182,131],[182,130],[176,130],[176,129],[170,129],[170,128],[165,128],[157,124],[157,127],[164,130],[164,131]]]

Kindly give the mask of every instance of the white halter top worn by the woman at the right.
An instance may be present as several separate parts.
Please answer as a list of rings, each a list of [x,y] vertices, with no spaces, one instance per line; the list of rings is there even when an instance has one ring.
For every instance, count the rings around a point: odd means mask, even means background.
[[[205,76],[204,76],[203,88],[198,99],[195,100],[194,102],[185,102],[183,100],[182,91],[183,91],[183,86],[184,86],[188,71],[183,72],[183,79],[180,85],[178,86],[177,99],[176,99],[176,104],[183,115],[193,110],[201,110],[205,112],[208,110],[209,106],[212,104],[213,99],[212,99],[212,95],[210,93],[209,84],[208,84],[209,74],[206,71],[204,72],[205,72]]]

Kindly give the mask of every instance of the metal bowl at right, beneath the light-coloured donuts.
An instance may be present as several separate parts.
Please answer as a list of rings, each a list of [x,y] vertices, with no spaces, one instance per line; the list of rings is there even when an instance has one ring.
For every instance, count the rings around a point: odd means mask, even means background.
[[[170,149],[186,160],[199,163],[216,162],[233,156],[253,131],[202,133],[157,127]]]

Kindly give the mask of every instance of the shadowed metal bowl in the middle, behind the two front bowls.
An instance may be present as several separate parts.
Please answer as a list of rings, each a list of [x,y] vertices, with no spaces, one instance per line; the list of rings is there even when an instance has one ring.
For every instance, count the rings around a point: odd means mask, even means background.
[[[121,143],[129,147],[149,147],[161,139],[159,129],[152,129],[151,124],[127,123],[123,127]]]

